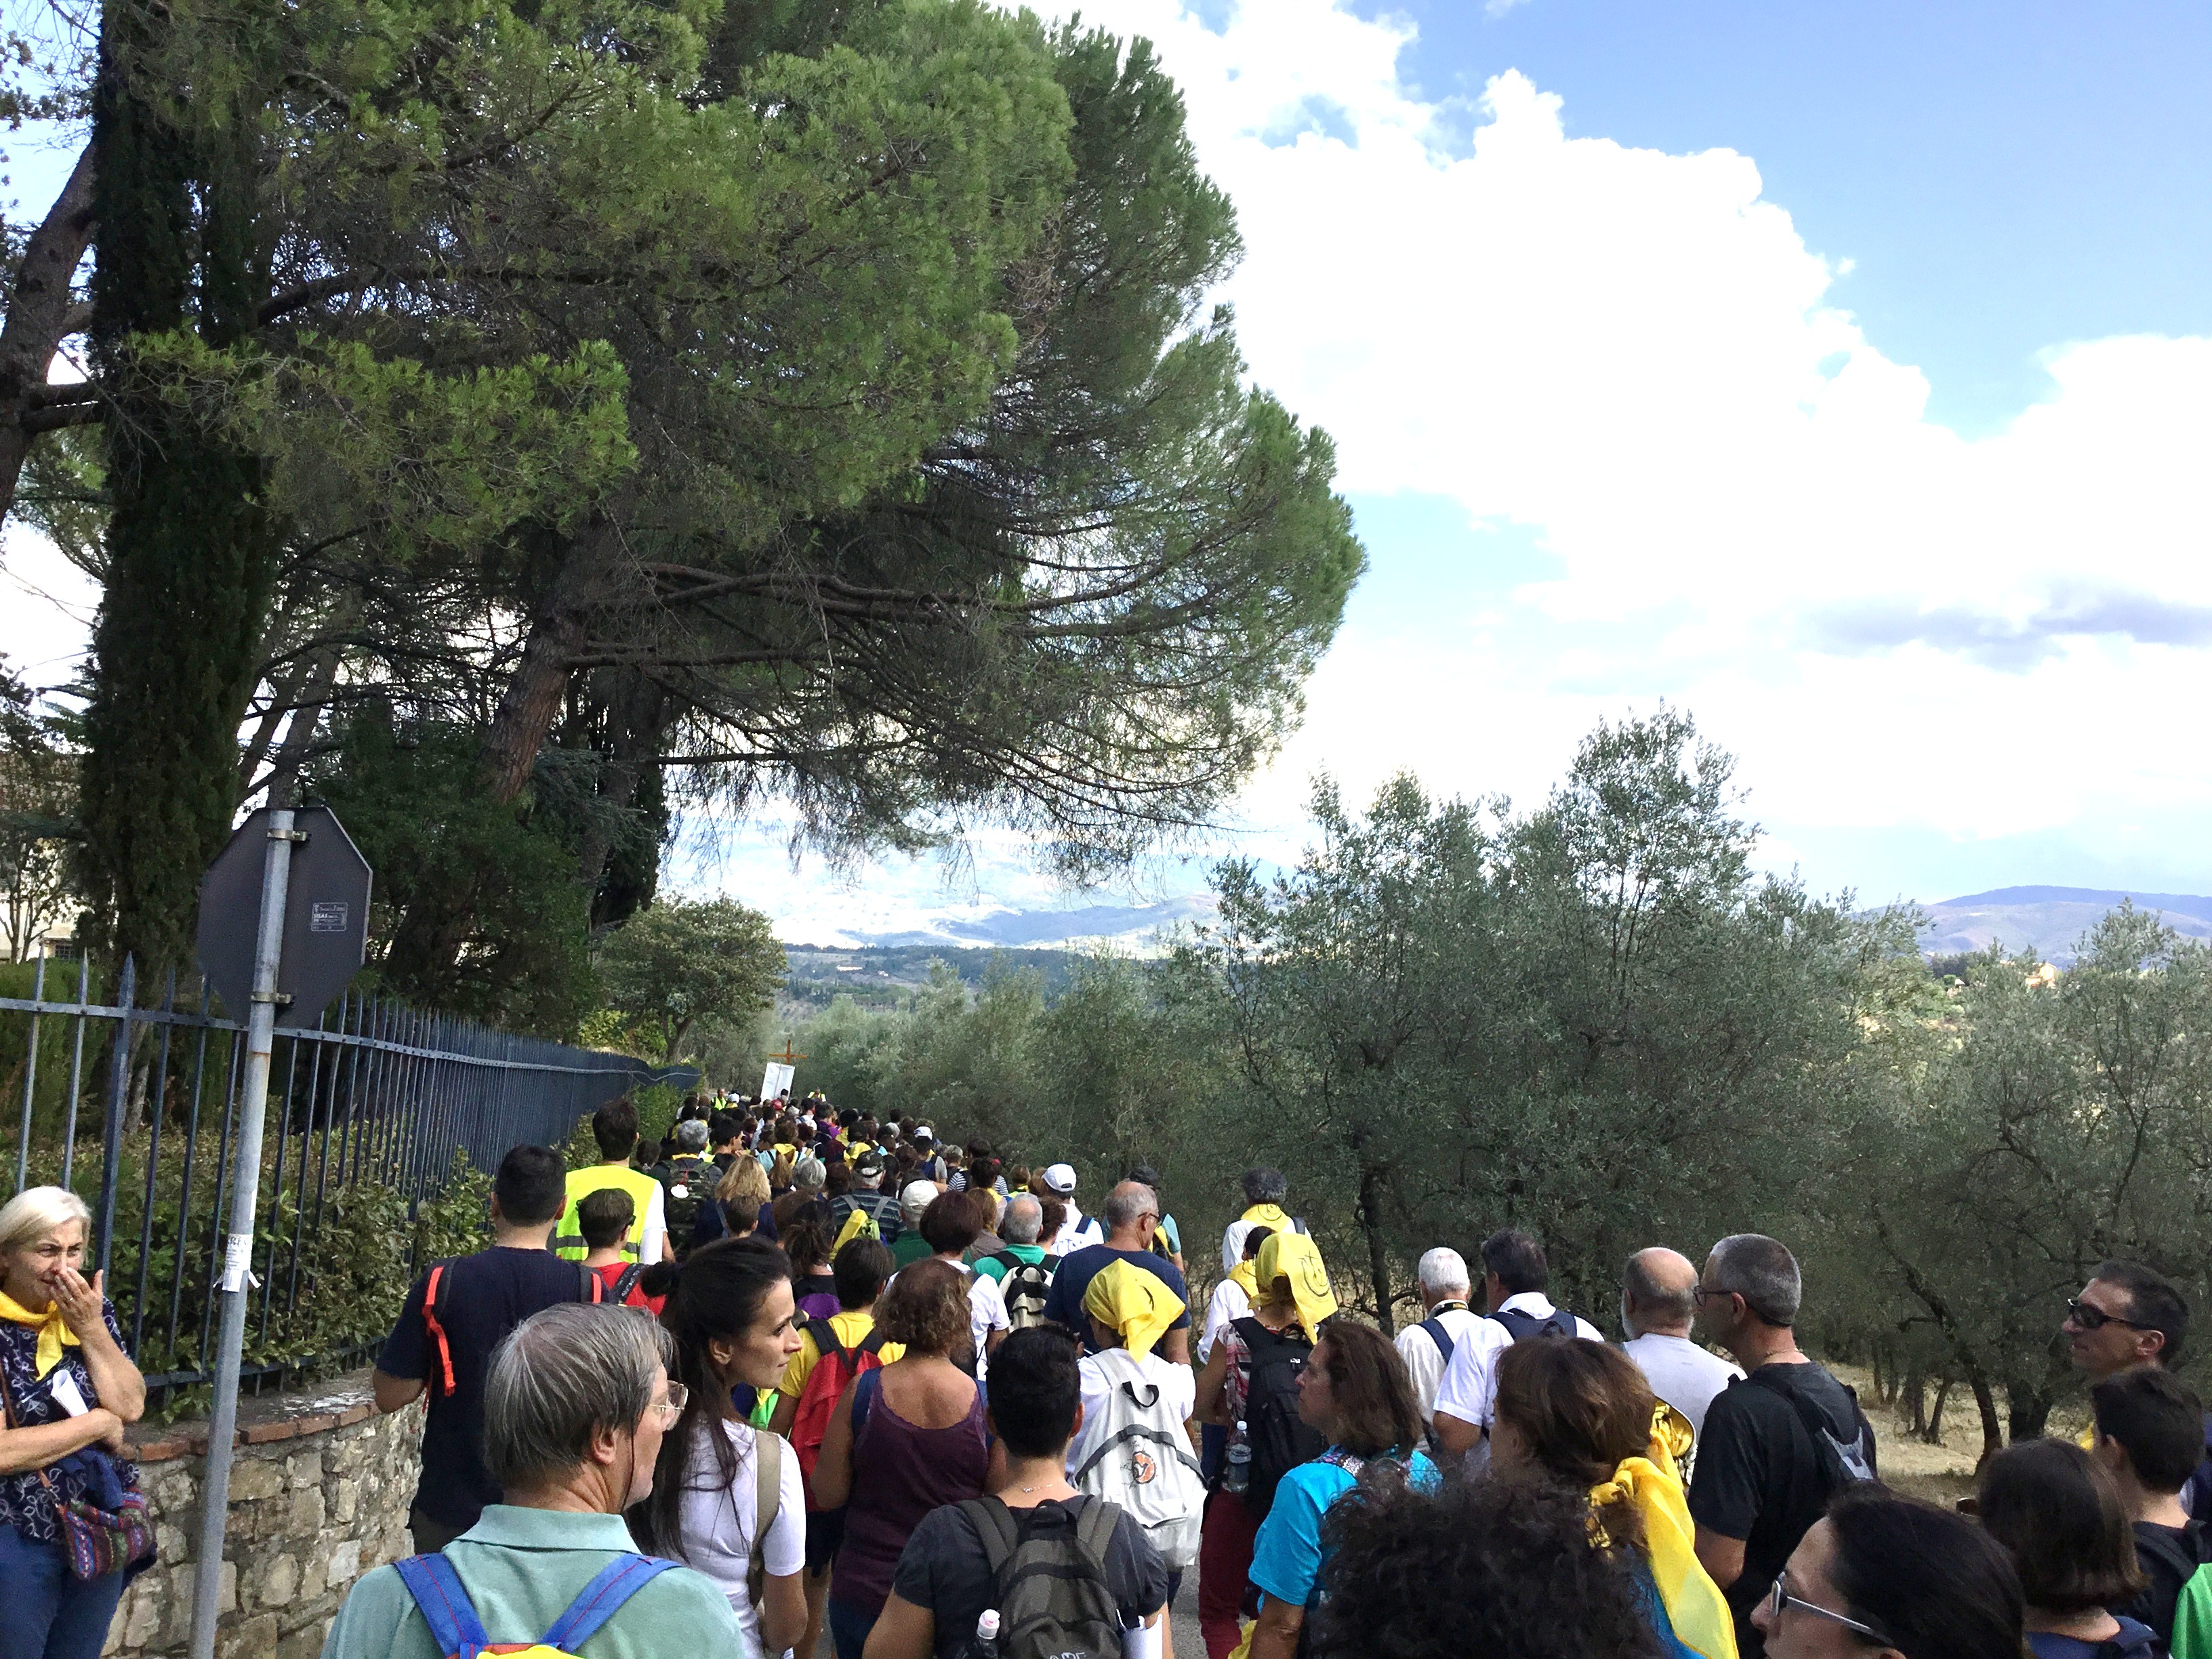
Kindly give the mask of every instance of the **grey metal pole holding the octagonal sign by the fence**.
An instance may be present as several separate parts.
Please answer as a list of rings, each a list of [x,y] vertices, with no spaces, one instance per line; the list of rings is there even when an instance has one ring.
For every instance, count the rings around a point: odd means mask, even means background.
[[[261,1119],[276,1046],[276,958],[283,953],[285,891],[292,883],[292,814],[270,812],[261,863],[261,931],[254,942],[254,995],[246,1013],[246,1093],[239,1104],[239,1164],[223,1239],[223,1327],[215,1349],[215,1422],[199,1495],[199,1559],[192,1573],[190,1659],[215,1659],[215,1604],[223,1584],[223,1531],[230,1522],[230,1442],[239,1431],[239,1356],[246,1349],[248,1267],[254,1256],[254,1206],[261,1199]]]

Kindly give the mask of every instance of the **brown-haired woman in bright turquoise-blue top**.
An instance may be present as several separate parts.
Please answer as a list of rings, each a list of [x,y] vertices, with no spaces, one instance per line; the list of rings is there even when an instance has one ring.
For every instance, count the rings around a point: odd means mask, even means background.
[[[1413,1378],[1383,1332],[1329,1318],[1298,1371],[1298,1418],[1329,1449],[1283,1475],[1252,1544],[1252,1586],[1261,1590],[1250,1659],[1294,1659],[1307,1608],[1321,1599],[1329,1506],[1363,1484],[1411,1482],[1433,1489],[1436,1464],[1422,1455]]]

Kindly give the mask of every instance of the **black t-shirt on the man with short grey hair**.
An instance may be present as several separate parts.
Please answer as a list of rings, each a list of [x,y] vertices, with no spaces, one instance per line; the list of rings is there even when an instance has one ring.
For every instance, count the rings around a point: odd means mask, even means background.
[[[1823,1409],[1838,1440],[1865,1422],[1849,1391],[1818,1365],[1763,1365]],[[1871,1436],[1869,1436],[1871,1440]],[[1690,1478],[1690,1520],[1743,1540],[1743,1575],[1728,1586],[1736,1615],[1736,1650],[1761,1659],[1767,1646],[1752,1628],[1752,1608],[1781,1577],[1790,1551],[1820,1520],[1829,1498],[1827,1464],[1781,1394],[1747,1378],[1732,1380],[1705,1407]]]

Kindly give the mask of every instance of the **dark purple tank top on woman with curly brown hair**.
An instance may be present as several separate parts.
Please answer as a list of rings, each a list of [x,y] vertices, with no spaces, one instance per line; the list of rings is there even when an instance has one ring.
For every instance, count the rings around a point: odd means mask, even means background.
[[[869,1371],[867,1376],[883,1376]],[[891,1573],[922,1515],[962,1498],[982,1498],[991,1449],[982,1431],[982,1389],[949,1429],[907,1422],[876,1385],[867,1422],[852,1442],[852,1498],[830,1595],[876,1617],[891,1595]]]

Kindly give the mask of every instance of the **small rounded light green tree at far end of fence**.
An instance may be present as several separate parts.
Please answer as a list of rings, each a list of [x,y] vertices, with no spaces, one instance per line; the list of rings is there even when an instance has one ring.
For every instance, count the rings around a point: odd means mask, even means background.
[[[770,920],[730,898],[664,898],[599,942],[608,1002],[661,1029],[677,1060],[703,1018],[743,1020],[774,1002],[783,947]]]

